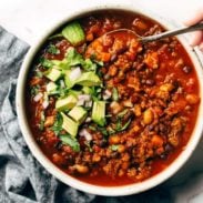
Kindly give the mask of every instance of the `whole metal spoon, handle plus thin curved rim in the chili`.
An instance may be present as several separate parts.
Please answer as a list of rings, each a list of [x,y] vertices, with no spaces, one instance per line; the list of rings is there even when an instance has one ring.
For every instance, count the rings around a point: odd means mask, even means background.
[[[116,30],[106,32],[106,33],[104,33],[104,35],[111,34],[111,33],[116,33],[116,32],[130,32],[130,33],[133,33],[135,37],[138,37],[139,41],[141,41],[142,43],[146,43],[146,42],[156,41],[156,40],[160,40],[163,38],[173,37],[173,35],[177,35],[177,34],[182,34],[182,33],[186,33],[186,32],[193,32],[193,31],[202,30],[202,29],[203,29],[203,23],[196,23],[196,24],[187,27],[187,28],[179,28],[175,30],[165,31],[165,32],[154,34],[154,35],[141,37],[133,30],[123,28],[123,29],[116,29]]]

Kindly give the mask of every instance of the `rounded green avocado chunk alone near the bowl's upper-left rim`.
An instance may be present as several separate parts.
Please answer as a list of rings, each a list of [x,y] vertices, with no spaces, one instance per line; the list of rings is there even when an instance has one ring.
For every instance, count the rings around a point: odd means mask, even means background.
[[[65,28],[63,28],[62,35],[73,45],[80,45],[85,40],[84,31],[77,21],[69,23]]]

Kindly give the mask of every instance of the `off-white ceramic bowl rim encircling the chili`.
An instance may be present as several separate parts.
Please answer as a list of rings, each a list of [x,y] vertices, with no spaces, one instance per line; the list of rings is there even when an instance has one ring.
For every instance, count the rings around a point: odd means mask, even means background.
[[[53,33],[58,28],[60,28],[62,24],[67,23],[68,21],[71,21],[75,18],[82,17],[85,13],[91,13],[91,11],[95,10],[103,10],[103,9],[120,9],[120,10],[126,10],[126,11],[133,11],[136,13],[141,13],[143,16],[150,17],[154,20],[156,20],[159,23],[161,23],[163,27],[166,29],[173,29],[173,24],[169,23],[164,19],[158,17],[154,13],[151,13],[144,9],[138,9],[138,8],[132,8],[128,6],[100,6],[100,7],[92,7],[85,10],[80,10],[75,12],[74,14],[69,14],[59,23],[55,23],[50,30],[45,31],[43,37],[35,43],[28,52],[23,64],[20,70],[19,79],[18,79],[18,87],[17,87],[17,112],[18,112],[18,119],[19,119],[19,124],[22,131],[22,134],[24,136],[24,140],[31,150],[32,154],[35,156],[35,159],[55,177],[58,177],[60,181],[63,183],[71,185],[78,190],[88,192],[88,193],[93,193],[93,194],[99,194],[99,195],[108,195],[108,196],[116,196],[116,195],[129,195],[129,194],[135,194],[140,193],[143,191],[146,191],[149,189],[152,189],[163,181],[168,180],[171,177],[174,173],[177,172],[177,170],[189,160],[191,156],[192,152],[196,148],[201,134],[203,132],[203,124],[202,124],[202,119],[203,119],[203,100],[201,100],[200,103],[200,110],[199,110],[199,115],[196,120],[195,128],[193,130],[193,133],[191,135],[190,141],[187,142],[186,148],[183,150],[183,152],[177,156],[177,159],[171,163],[170,166],[168,166],[164,171],[161,173],[141,182],[141,183],[134,183],[125,186],[97,186],[92,184],[88,184],[84,182],[81,182],[64,172],[62,172],[60,169],[58,169],[48,158],[41,152],[40,148],[35,143],[32,133],[30,131],[27,116],[26,116],[26,108],[24,108],[24,87],[26,87],[26,80],[27,75],[30,69],[30,65],[32,63],[32,60],[35,57],[35,53],[39,51],[41,45],[44,43],[47,38]],[[183,38],[179,38],[185,50],[187,51],[189,55],[191,57],[192,62],[195,65],[196,72],[197,72],[197,78],[200,81],[200,95],[202,98],[203,95],[203,70],[201,67],[200,61],[197,60],[196,54],[194,51],[187,45],[185,40]]]

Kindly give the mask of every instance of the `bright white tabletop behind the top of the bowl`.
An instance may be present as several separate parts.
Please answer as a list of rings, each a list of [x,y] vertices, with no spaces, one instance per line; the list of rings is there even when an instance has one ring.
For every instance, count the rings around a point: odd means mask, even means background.
[[[203,0],[0,0],[0,26],[32,44],[67,12],[105,2],[148,7],[179,21],[203,6]]]

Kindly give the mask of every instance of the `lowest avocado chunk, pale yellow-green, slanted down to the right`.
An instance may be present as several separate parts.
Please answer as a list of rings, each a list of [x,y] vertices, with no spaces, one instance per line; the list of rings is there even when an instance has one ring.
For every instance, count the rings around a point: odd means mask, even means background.
[[[61,112],[61,115],[63,118],[62,129],[64,129],[71,136],[77,136],[79,123],[67,116],[63,112]]]

